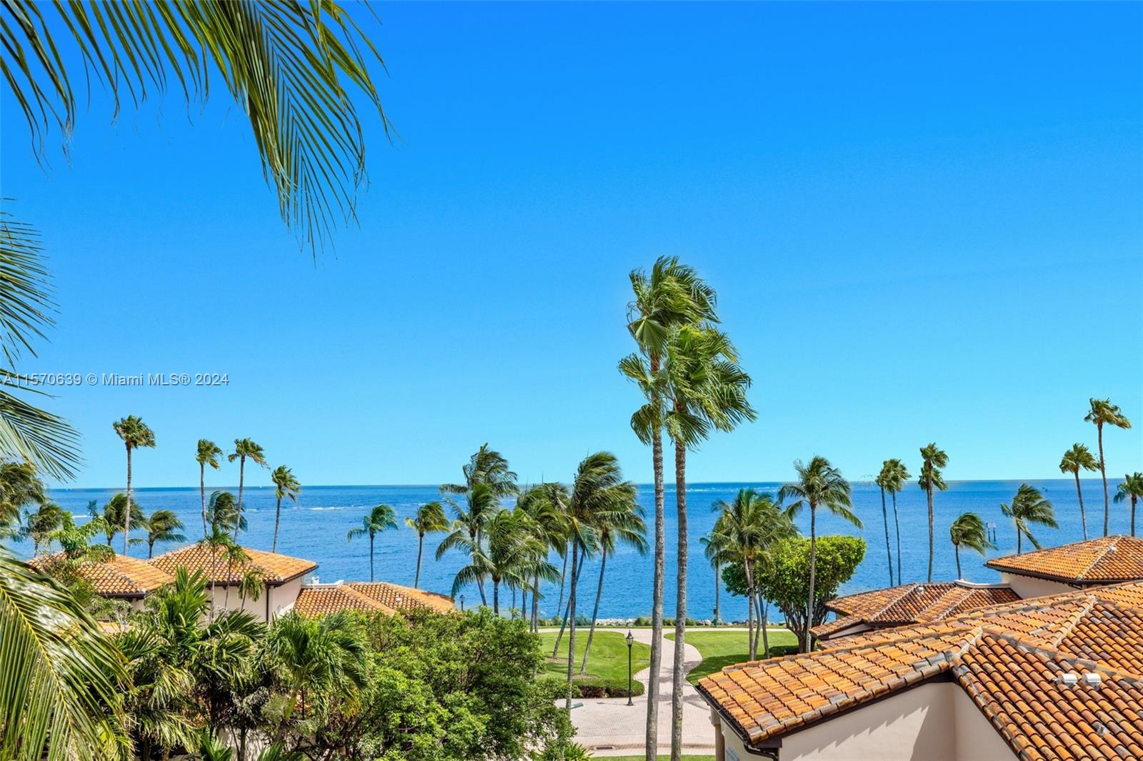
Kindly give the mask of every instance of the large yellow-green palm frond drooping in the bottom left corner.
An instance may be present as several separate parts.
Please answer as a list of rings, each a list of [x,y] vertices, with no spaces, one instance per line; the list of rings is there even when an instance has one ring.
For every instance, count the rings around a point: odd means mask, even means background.
[[[126,752],[122,656],[63,587],[2,550],[0,631],[0,758],[94,761]]]

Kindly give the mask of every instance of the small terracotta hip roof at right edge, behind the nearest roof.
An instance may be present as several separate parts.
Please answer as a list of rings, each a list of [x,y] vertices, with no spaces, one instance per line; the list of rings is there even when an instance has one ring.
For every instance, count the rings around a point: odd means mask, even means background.
[[[1143,539],[1105,536],[984,563],[1009,574],[1036,576],[1076,586],[1143,579]]]

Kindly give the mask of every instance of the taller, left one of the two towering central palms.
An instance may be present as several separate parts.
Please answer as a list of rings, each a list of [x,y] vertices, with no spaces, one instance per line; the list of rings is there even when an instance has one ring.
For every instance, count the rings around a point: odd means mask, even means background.
[[[663,579],[666,574],[666,536],[663,486],[663,419],[665,396],[661,377],[666,342],[680,325],[716,322],[716,295],[677,257],[661,256],[650,273],[631,271],[632,299],[628,304],[628,331],[638,345],[638,354],[620,361],[620,370],[634,382],[646,403],[631,416],[631,427],[639,440],[652,447],[655,475],[655,564],[652,591],[650,676],[647,680],[647,761],[654,761],[658,743],[658,674],[663,659]],[[561,601],[562,602],[562,601]],[[560,606],[562,607],[562,606]]]

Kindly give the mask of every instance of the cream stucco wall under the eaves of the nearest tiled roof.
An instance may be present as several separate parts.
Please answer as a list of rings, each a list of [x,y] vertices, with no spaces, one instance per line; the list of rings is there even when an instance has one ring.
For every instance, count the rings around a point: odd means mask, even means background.
[[[746,761],[737,734],[722,723],[725,759]],[[964,690],[930,682],[786,735],[780,761],[1007,761],[1015,759]]]

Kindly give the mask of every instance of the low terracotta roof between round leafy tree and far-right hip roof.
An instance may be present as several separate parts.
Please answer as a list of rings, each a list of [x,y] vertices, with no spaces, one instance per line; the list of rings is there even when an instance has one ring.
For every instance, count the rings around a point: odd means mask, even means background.
[[[857,624],[878,628],[934,622],[975,608],[1016,600],[1020,598],[1007,586],[973,585],[962,582],[903,584],[830,600],[825,604],[839,614],[839,620],[846,619],[852,623],[838,626],[838,622],[830,622],[815,626],[810,633],[815,638],[825,640]]]

